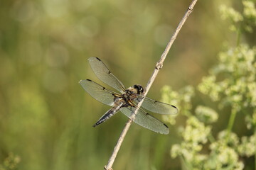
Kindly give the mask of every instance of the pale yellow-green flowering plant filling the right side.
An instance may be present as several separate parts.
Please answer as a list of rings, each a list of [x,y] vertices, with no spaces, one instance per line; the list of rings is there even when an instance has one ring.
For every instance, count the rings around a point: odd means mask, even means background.
[[[223,19],[230,21],[230,30],[237,33],[237,44],[225,45],[218,55],[218,63],[198,85],[198,93],[171,91],[169,86],[163,89],[164,101],[177,103],[181,114],[186,116],[186,125],[181,126],[179,133],[182,141],[171,147],[171,157],[179,157],[183,169],[256,167],[256,47],[240,40],[245,32],[255,31],[256,8],[250,0],[243,0],[242,4],[242,13],[220,6]],[[192,86],[190,89],[195,91]],[[191,98],[200,95],[199,91],[206,101],[210,98],[208,103],[205,101],[206,106],[192,102]],[[210,103],[218,107],[210,108]],[[221,128],[216,130],[216,122],[223,115],[228,121],[218,124]],[[241,132],[242,125],[247,127],[244,132]]]

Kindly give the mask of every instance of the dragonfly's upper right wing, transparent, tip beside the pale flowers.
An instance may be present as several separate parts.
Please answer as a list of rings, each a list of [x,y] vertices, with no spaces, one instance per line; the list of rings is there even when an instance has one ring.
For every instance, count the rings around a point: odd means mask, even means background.
[[[178,108],[176,108],[176,106],[161,101],[154,101],[146,96],[139,96],[135,101],[139,103],[139,101],[142,101],[142,98],[144,98],[142,107],[146,108],[148,111],[165,115],[175,115],[178,113]]]

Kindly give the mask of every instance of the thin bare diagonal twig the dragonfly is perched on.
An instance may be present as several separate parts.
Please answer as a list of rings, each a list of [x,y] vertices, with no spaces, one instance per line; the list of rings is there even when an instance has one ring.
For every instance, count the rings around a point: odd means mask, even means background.
[[[148,93],[151,85],[153,84],[154,79],[156,79],[156,75],[158,74],[159,70],[163,67],[163,63],[164,63],[164,60],[166,58],[166,55],[168,54],[168,52],[171,48],[171,45],[174,43],[174,40],[176,39],[179,31],[181,30],[183,24],[186,21],[186,19],[188,18],[188,16],[193,11],[193,7],[195,6],[196,1],[198,1],[198,0],[193,0],[191,2],[190,6],[188,7],[188,10],[186,11],[185,15],[183,16],[180,23],[178,24],[178,27],[174,31],[174,34],[171,36],[171,40],[168,42],[168,45],[166,46],[166,49],[164,50],[163,54],[161,55],[161,58],[160,58],[159,62],[156,63],[156,67],[154,69],[154,72],[151,75],[148,83],[146,84],[146,88],[145,88],[145,92],[144,92],[145,96]],[[143,101],[144,101],[144,99],[142,99],[142,101],[140,101],[138,103],[138,108],[140,108],[140,106],[142,106]],[[125,124],[124,129],[122,130],[122,133],[119,137],[119,140],[117,141],[117,145],[114,147],[114,151],[112,153],[112,156],[110,157],[110,160],[109,160],[107,166],[104,167],[106,170],[112,170],[112,165],[114,164],[114,159],[117,157],[117,152],[119,151],[119,149],[122,145],[122,142],[124,140],[125,135],[127,134],[127,131],[129,130],[129,127],[132,125],[132,121],[134,120],[134,118],[137,114],[138,108],[134,111],[134,114],[129,118],[129,120]]]

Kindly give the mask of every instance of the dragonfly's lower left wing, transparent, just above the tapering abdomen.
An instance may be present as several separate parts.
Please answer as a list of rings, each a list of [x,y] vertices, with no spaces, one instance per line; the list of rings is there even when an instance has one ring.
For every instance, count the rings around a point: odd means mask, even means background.
[[[85,89],[85,91],[87,91],[87,93],[97,101],[109,106],[113,106],[114,95],[117,95],[114,91],[110,91],[109,89],[106,89],[104,86],[101,86],[90,79],[80,80],[79,83],[82,88]]]

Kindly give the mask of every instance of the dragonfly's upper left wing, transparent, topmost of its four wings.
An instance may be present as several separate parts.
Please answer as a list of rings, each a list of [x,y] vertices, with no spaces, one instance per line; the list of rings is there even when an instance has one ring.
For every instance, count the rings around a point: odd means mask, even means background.
[[[125,91],[125,88],[122,82],[119,81],[119,79],[117,79],[117,77],[115,77],[114,74],[112,74],[109,69],[107,69],[106,65],[99,58],[90,57],[88,60],[97,78],[99,78],[105,84],[112,86],[114,89],[117,89],[117,91],[120,91],[120,92]]]

